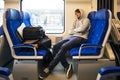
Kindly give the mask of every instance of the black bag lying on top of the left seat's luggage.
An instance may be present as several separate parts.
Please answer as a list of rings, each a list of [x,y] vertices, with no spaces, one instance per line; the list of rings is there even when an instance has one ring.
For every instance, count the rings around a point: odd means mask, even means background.
[[[45,31],[42,27],[25,27],[23,29],[23,39],[24,40],[35,40],[42,39],[45,36]]]

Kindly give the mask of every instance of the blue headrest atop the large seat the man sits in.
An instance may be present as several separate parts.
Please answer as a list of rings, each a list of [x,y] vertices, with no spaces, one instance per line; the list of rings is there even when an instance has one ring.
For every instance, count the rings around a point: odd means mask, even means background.
[[[107,20],[109,18],[109,12],[107,9],[100,9],[95,14],[95,19]]]

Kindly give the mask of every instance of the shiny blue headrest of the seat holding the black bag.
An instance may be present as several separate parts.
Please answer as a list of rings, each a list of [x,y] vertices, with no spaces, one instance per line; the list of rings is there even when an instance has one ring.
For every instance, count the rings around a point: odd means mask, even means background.
[[[20,12],[16,9],[7,9],[6,11],[6,19],[7,20],[20,20],[22,19],[22,15]]]

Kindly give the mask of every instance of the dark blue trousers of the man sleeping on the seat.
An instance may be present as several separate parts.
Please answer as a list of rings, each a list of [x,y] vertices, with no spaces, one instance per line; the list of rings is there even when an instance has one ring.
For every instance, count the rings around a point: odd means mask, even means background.
[[[54,58],[50,62],[48,68],[50,70],[53,70],[54,67],[61,62],[64,68],[68,67],[69,64],[65,58],[65,53],[74,48],[80,46],[82,43],[86,42],[86,39],[78,37],[78,36],[72,36],[67,39],[64,39],[57,44],[53,46],[53,55]]]

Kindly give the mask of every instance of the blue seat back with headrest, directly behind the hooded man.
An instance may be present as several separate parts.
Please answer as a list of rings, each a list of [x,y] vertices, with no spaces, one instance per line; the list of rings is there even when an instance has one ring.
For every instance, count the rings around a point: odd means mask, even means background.
[[[95,12],[94,12],[95,13]],[[91,14],[91,13],[90,13]],[[91,30],[88,43],[102,45],[109,25],[109,12],[107,9],[99,10],[91,19]]]

